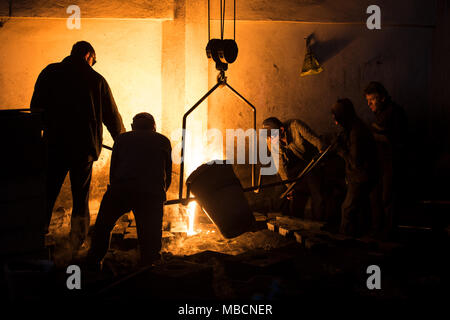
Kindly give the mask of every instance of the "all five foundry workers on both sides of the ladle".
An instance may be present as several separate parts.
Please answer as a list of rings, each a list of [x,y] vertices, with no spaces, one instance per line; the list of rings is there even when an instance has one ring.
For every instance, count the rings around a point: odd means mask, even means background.
[[[42,112],[48,146],[46,232],[69,173],[73,199],[72,250],[79,250],[87,239],[92,165],[102,149],[105,124],[114,139],[110,184],[95,222],[87,264],[101,267],[116,221],[131,210],[136,218],[141,261],[151,264],[159,259],[161,249],[163,205],[172,174],[171,144],[156,132],[155,120],[149,113],[135,115],[132,131],[125,132],[107,81],[92,68],[95,63],[92,45],[79,41],[62,62],[48,65],[35,84],[31,110]],[[406,131],[403,110],[392,102],[380,83],[370,83],[364,93],[377,119],[372,130],[357,116],[349,99],[340,99],[331,108],[343,130],[333,145],[345,160],[347,183],[340,231],[353,236],[363,231],[360,220],[366,217],[371,202],[372,207],[376,203],[383,211],[373,219],[377,231],[395,225],[395,173]],[[272,117],[264,121],[263,127],[271,129],[270,140],[279,140],[282,179],[295,177],[327,146],[300,120],[282,123]],[[274,134],[276,131],[278,136]],[[320,171],[314,169],[299,183],[309,190],[313,211],[318,216],[326,203],[321,180]],[[308,197],[295,190],[289,194],[291,201],[297,203],[293,208],[304,209]]]

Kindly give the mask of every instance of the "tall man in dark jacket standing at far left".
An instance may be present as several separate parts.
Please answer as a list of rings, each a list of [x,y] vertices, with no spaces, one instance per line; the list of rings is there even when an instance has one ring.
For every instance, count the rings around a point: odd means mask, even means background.
[[[125,131],[108,83],[92,69],[95,62],[88,42],[75,43],[70,56],[42,70],[31,99],[31,109],[43,112],[48,143],[47,230],[69,172],[74,250],[84,242],[89,227],[89,187],[92,164],[102,148],[102,123],[113,139]]]

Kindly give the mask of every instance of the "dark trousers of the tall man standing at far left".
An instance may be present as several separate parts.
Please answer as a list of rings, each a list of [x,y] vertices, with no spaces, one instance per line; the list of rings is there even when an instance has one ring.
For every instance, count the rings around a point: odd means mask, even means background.
[[[67,172],[72,190],[72,217],[70,238],[74,246],[80,246],[86,239],[89,229],[89,188],[92,178],[92,161],[69,164],[68,161],[49,156],[47,168],[47,221],[50,225],[53,207],[59,195]]]

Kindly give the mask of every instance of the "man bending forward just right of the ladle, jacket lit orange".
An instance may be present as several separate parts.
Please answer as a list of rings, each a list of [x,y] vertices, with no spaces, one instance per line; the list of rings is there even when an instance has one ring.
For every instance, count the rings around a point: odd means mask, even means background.
[[[278,139],[279,143],[279,168],[278,174],[282,180],[293,179],[308,165],[312,158],[324,149],[321,138],[314,133],[303,121],[298,119],[288,120],[282,123],[275,117],[263,121],[263,128],[276,129],[279,136],[269,135],[270,140]],[[313,218],[324,218],[324,199],[322,196],[322,175],[320,168],[316,167],[296,185],[290,194],[289,214],[304,216],[304,209],[309,195],[312,201]],[[301,211],[301,212],[300,212]]]

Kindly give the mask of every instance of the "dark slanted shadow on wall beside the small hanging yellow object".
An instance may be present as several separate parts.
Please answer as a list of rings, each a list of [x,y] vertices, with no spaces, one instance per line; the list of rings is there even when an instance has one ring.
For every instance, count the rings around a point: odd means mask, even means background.
[[[324,64],[339,52],[345,49],[353,40],[351,35],[341,36],[326,41],[320,41],[314,33],[308,36],[311,50],[314,52],[319,63]]]

